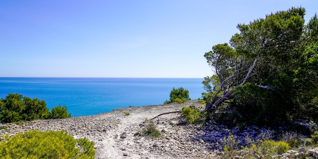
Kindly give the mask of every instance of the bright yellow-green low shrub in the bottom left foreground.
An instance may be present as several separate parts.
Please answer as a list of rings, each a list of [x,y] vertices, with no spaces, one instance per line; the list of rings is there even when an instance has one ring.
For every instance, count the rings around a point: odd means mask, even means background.
[[[74,139],[65,131],[28,131],[0,142],[0,158],[94,158],[95,154],[92,141]]]

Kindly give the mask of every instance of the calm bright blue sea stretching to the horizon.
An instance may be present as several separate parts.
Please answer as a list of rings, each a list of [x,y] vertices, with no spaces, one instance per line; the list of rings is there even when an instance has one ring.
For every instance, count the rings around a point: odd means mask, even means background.
[[[72,117],[129,106],[163,104],[173,87],[198,99],[203,78],[16,78],[0,77],[0,98],[8,93],[44,100],[49,109],[66,105]]]

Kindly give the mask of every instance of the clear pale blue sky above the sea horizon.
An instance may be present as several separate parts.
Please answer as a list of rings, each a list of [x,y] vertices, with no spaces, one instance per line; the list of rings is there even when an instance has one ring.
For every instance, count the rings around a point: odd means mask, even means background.
[[[0,2],[0,77],[211,76],[203,57],[238,23],[316,0]]]

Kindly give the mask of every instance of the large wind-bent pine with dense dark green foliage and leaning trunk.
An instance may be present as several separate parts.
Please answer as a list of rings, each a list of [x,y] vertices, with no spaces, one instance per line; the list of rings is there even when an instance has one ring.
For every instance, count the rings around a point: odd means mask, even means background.
[[[318,20],[305,25],[304,15],[292,8],[238,24],[230,45],[206,52],[215,74],[203,81],[206,111],[252,124],[317,120]]]

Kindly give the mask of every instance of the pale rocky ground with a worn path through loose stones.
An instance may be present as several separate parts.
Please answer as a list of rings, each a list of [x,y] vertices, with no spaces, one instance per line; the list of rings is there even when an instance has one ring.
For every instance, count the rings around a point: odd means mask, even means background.
[[[12,136],[27,130],[66,130],[75,138],[86,137],[93,141],[96,158],[213,158],[218,151],[212,147],[218,145],[199,139],[202,126],[182,124],[180,113],[162,115],[153,120],[162,137],[134,136],[144,128],[146,118],[181,111],[188,106],[203,107],[197,101],[188,101],[184,104],[121,108],[68,119],[35,120],[22,125],[0,124],[0,136]]]

